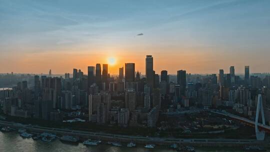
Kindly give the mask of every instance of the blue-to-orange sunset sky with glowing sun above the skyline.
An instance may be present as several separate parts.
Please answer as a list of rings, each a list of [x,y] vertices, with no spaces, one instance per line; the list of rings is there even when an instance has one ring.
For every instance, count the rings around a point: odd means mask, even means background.
[[[0,0],[0,73],[145,73],[147,54],[156,73],[270,72],[270,0]]]

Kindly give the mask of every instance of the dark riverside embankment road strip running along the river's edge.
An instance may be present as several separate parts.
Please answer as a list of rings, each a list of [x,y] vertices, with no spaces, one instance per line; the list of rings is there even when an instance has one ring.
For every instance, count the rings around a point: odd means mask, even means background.
[[[15,128],[25,128],[28,132],[50,132],[61,135],[78,136],[80,139],[98,139],[102,141],[119,141],[122,143],[128,143],[133,141],[137,144],[156,144],[162,146],[168,146],[172,143],[191,145],[195,147],[238,147],[242,148],[245,146],[263,146],[270,147],[270,143],[266,141],[257,141],[255,139],[207,139],[207,138],[165,138],[165,137],[145,137],[145,136],[132,136],[132,135],[121,135],[113,133],[103,132],[90,132],[81,130],[71,130],[64,128],[53,128],[53,127],[42,127],[37,125],[27,125],[15,122],[1,121],[1,126],[10,126]]]

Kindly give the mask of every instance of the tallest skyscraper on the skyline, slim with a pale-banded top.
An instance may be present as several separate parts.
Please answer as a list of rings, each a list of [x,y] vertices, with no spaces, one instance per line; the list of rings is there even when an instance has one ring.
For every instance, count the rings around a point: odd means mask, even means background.
[[[153,75],[153,57],[152,55],[146,55],[145,58],[145,76],[147,85],[150,87],[150,90],[153,88],[154,75]]]

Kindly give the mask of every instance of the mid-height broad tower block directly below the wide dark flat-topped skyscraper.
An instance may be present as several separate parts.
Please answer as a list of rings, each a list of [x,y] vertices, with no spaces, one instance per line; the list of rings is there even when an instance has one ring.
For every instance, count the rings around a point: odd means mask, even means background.
[[[134,89],[127,89],[125,92],[125,108],[129,110],[136,109],[136,92]]]

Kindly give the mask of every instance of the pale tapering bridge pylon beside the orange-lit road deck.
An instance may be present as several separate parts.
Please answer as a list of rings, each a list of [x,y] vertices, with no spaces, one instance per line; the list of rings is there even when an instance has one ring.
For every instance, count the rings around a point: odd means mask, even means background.
[[[258,129],[259,112],[261,115],[262,124],[265,124],[261,94],[258,94],[258,102],[257,102],[256,118],[255,118],[255,133],[256,133],[257,140],[264,140],[265,132],[263,130]]]

